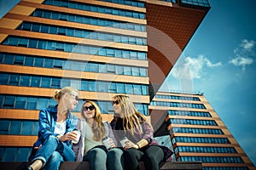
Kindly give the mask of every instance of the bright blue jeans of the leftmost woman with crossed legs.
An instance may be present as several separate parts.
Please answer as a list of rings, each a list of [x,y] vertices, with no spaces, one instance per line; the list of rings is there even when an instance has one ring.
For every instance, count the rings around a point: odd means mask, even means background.
[[[42,160],[45,169],[58,169],[62,161],[75,161],[73,150],[66,143],[53,135],[49,135],[32,159]]]

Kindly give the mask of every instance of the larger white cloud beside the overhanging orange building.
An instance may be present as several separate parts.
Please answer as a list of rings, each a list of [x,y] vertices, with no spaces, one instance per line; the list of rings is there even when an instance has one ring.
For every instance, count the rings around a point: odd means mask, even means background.
[[[205,68],[218,66],[222,66],[222,63],[212,63],[203,55],[199,55],[197,58],[186,57],[174,66],[175,71],[172,71],[172,76],[184,79],[200,79]]]

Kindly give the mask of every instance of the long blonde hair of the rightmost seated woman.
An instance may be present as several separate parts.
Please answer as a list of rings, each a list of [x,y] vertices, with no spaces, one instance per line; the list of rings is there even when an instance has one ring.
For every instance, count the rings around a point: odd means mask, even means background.
[[[147,122],[147,118],[137,111],[135,105],[129,99],[129,96],[119,94],[113,96],[113,100],[119,101],[119,105],[121,106],[122,115],[120,116],[124,119],[124,129],[130,131],[132,135],[137,133],[136,128],[139,130],[139,133],[143,133],[141,123]],[[118,117],[118,115],[115,114],[115,117]],[[148,124],[151,127],[150,123]]]

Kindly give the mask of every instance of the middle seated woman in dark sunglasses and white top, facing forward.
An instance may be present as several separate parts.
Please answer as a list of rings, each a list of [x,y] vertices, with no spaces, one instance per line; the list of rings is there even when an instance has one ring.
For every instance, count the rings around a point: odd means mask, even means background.
[[[78,144],[73,144],[73,150],[76,153],[76,161],[89,161],[91,170],[114,169],[114,159],[108,159],[107,156],[114,155],[116,140],[108,122],[102,122],[100,108],[94,101],[84,102],[78,129],[81,131],[81,138]],[[102,139],[108,138],[108,145],[102,143]],[[114,156],[113,156],[114,157]]]

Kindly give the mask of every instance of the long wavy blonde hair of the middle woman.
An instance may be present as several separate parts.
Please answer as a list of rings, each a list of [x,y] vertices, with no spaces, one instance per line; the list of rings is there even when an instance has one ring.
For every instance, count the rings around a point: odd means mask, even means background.
[[[86,101],[84,101],[84,104],[86,104],[86,103],[90,103],[90,105],[95,106],[95,116],[94,116],[94,122],[92,124],[91,130],[93,133],[93,139],[96,141],[100,141],[106,134],[106,129],[104,127],[104,123],[102,122],[102,112],[101,112],[99,106],[96,105],[96,103],[94,101],[86,100]],[[84,104],[83,104],[83,107],[84,107]],[[83,107],[82,107],[82,111],[81,111],[81,116],[83,116],[84,119],[86,119],[84,116]]]

